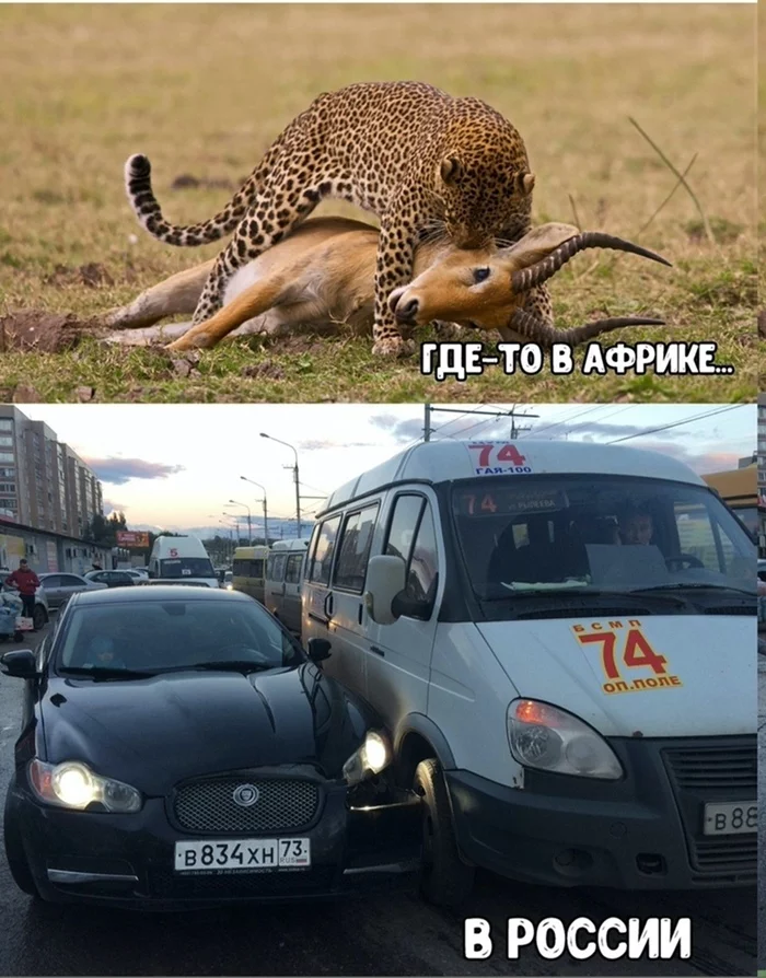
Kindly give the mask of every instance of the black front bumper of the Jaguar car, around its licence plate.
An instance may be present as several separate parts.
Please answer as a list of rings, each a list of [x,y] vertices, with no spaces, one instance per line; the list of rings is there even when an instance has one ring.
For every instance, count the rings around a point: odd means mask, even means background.
[[[148,800],[135,815],[108,815],[40,805],[14,788],[10,810],[44,899],[179,910],[337,897],[407,884],[419,862],[419,804],[406,793],[385,805],[355,808],[345,788],[335,787],[326,792],[316,824],[281,834],[311,840],[310,869],[201,875],[175,871],[174,845],[206,836],[174,828],[161,799]]]

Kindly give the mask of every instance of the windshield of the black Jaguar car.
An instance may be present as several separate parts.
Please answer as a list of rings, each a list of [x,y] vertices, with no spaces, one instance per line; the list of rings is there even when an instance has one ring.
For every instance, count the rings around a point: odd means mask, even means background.
[[[255,602],[167,601],[81,605],[58,643],[57,667],[97,674],[297,665],[300,645]]]

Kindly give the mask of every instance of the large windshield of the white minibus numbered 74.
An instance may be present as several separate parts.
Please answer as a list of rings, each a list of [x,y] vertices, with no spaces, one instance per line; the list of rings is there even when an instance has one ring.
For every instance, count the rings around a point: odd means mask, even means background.
[[[452,512],[481,601],[755,594],[755,547],[705,487],[608,475],[487,477],[455,482]]]

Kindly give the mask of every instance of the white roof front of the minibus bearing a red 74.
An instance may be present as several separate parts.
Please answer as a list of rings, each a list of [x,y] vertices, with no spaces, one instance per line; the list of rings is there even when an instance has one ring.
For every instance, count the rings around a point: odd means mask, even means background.
[[[489,464],[480,466],[480,446],[494,446],[486,453]],[[519,466],[513,463],[510,452],[506,461],[498,461],[498,452],[503,446],[512,446],[519,453]],[[474,447],[472,447],[474,446]],[[523,461],[522,461],[523,459]],[[362,473],[327,497],[317,513],[322,515],[358,497],[368,496],[397,482],[448,482],[454,479],[472,479],[499,473],[494,468],[519,467],[529,473],[509,474],[509,478],[523,478],[524,474],[599,474],[614,476],[636,476],[642,478],[668,479],[705,486],[705,481],[683,462],[660,452],[646,452],[622,445],[600,445],[588,442],[533,441],[522,439],[514,442],[502,441],[456,441],[445,439],[438,442],[421,442],[394,455],[387,462]]]

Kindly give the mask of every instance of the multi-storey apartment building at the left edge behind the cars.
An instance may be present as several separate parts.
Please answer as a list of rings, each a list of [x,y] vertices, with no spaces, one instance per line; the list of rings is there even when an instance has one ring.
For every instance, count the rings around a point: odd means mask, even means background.
[[[0,405],[0,517],[81,538],[103,513],[95,473],[43,421]]]

